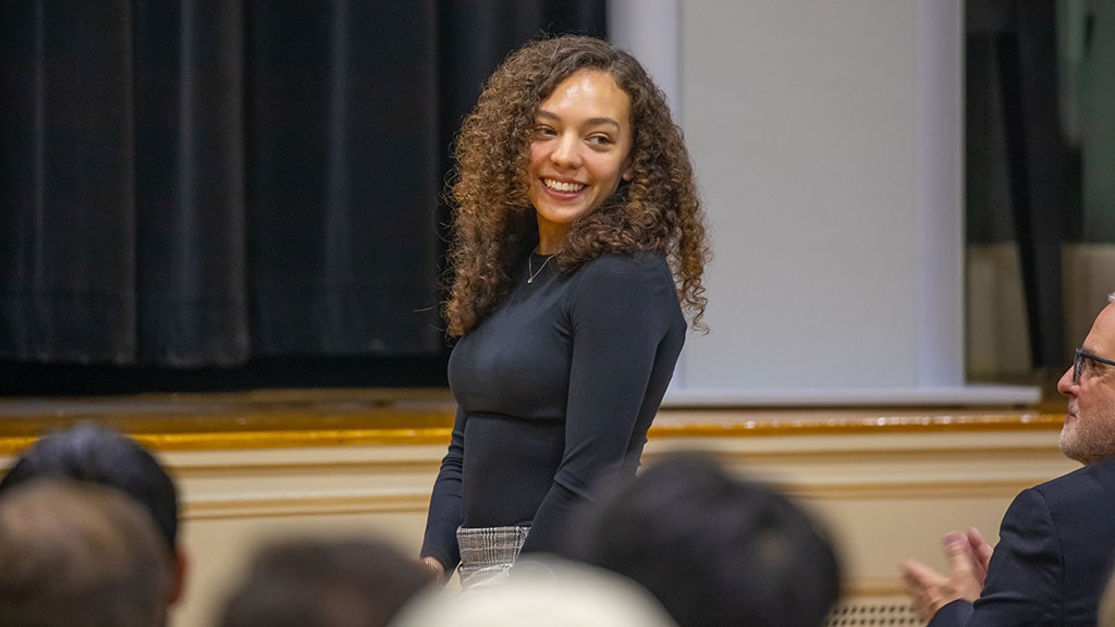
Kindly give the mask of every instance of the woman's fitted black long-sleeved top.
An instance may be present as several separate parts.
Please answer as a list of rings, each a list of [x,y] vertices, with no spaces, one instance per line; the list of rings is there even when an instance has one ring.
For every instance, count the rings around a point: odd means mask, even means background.
[[[527,278],[524,259],[449,357],[457,417],[421,550],[448,570],[458,525],[530,525],[523,551],[547,551],[598,479],[633,476],[685,341],[658,253],[604,255],[571,273],[551,261]]]

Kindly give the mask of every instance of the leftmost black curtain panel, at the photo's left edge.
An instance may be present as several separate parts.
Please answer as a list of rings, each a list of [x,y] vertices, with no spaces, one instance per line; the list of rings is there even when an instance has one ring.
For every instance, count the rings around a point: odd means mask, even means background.
[[[0,29],[0,353],[133,359],[129,3],[3,2]]]

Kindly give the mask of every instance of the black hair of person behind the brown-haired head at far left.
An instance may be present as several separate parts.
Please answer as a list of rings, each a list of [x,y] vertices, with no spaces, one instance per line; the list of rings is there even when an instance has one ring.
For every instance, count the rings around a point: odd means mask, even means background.
[[[48,434],[0,479],[0,494],[37,479],[74,479],[116,488],[154,518],[171,550],[177,548],[178,493],[174,481],[138,442],[95,424]]]

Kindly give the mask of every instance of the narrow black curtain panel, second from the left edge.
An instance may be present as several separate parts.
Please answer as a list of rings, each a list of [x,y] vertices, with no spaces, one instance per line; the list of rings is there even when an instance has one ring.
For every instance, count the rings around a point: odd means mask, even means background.
[[[134,359],[250,355],[240,2],[135,3]],[[96,245],[96,243],[93,243]],[[96,330],[91,330],[95,335]]]

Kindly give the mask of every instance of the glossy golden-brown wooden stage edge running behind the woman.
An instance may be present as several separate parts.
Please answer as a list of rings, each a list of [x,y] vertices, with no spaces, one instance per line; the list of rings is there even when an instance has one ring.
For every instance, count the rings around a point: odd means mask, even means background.
[[[651,438],[1056,431],[1059,409],[663,409]],[[883,413],[885,412],[885,413]],[[0,402],[0,455],[89,421],[158,451],[448,443],[447,390],[266,390]]]

